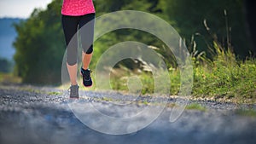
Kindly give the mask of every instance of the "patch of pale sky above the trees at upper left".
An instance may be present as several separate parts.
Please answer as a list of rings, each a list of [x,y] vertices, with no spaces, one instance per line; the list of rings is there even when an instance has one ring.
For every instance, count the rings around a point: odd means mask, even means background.
[[[0,18],[28,18],[35,8],[46,9],[52,0],[0,0]]]

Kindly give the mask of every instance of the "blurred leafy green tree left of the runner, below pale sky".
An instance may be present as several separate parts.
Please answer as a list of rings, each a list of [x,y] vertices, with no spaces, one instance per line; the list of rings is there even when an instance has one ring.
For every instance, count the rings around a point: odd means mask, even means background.
[[[61,0],[46,10],[35,9],[30,18],[15,25],[15,73],[23,82],[60,84],[65,43],[61,29]]]

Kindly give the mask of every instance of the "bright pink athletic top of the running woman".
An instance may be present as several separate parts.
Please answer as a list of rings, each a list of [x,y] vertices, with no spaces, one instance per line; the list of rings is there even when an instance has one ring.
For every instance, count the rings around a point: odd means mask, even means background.
[[[95,13],[92,0],[63,0],[61,14],[80,16]]]

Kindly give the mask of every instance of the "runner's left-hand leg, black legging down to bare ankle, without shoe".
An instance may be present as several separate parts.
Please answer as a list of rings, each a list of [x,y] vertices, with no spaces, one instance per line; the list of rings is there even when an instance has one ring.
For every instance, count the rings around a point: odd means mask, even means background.
[[[78,17],[62,15],[62,26],[67,45],[67,71],[72,85],[77,85]]]

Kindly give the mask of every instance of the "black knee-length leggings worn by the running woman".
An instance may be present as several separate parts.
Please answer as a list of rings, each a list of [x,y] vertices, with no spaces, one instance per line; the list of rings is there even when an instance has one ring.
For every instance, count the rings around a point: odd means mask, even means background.
[[[73,66],[78,62],[78,33],[84,53],[91,54],[93,51],[95,14],[62,15],[61,22],[67,46],[67,64]]]

